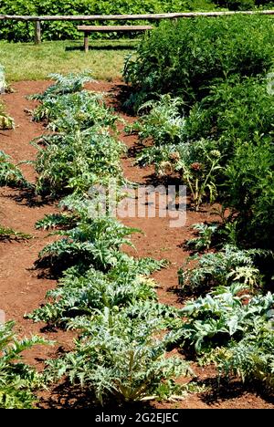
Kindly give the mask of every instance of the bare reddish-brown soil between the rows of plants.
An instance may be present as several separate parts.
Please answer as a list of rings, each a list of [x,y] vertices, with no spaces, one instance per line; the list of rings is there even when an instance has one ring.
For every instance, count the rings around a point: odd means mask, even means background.
[[[12,156],[16,162],[34,160],[37,150],[29,142],[41,135],[45,128],[40,123],[34,123],[26,114],[25,109],[33,109],[36,102],[26,99],[26,96],[41,92],[47,88],[48,82],[24,81],[13,85],[15,93],[6,94],[1,99],[4,100],[7,112],[16,121],[16,130],[0,131],[0,150]],[[114,85],[114,86],[113,86]],[[112,83],[99,82],[89,85],[89,89],[108,92],[110,103],[116,105],[116,95],[121,89],[122,83],[116,81]],[[132,117],[121,114],[124,120],[132,122]],[[129,148],[138,145],[137,137],[126,136],[122,132],[121,141],[124,141]],[[150,183],[153,179],[153,168],[141,169],[132,165],[132,158],[123,159],[125,176],[133,182]],[[21,165],[21,169],[30,181],[34,181],[36,176],[30,165]],[[45,294],[48,289],[56,286],[56,281],[50,280],[47,276],[42,276],[34,268],[39,251],[50,241],[47,233],[37,231],[35,224],[37,220],[47,213],[57,210],[54,204],[42,204],[39,201],[29,203],[24,194],[18,190],[10,188],[0,188],[0,224],[15,228],[17,231],[32,234],[33,238],[26,242],[0,242],[0,309],[5,311],[6,319],[16,320],[16,330],[19,335],[29,335],[39,333],[45,338],[57,341],[55,347],[36,347],[26,354],[26,361],[35,364],[38,369],[42,369],[43,360],[49,357],[56,357],[60,349],[71,349],[73,347],[73,334],[61,330],[43,329],[43,324],[33,324],[24,319],[24,314],[31,312],[34,308],[45,302]],[[170,228],[168,218],[128,218],[123,220],[124,224],[142,229],[144,234],[134,234],[132,242],[136,250],[128,250],[136,256],[153,256],[157,259],[165,258],[170,261],[170,266],[161,272],[154,274],[159,283],[159,299],[165,304],[182,307],[182,302],[178,300],[177,270],[184,264],[189,255],[184,250],[184,242],[189,239],[193,232],[190,228],[192,224],[205,221],[213,221],[209,207],[204,208],[201,213],[189,211],[187,213],[186,224],[183,228]],[[183,245],[183,246],[182,246]],[[156,408],[176,408],[176,409],[274,409],[274,404],[268,401],[267,397],[258,396],[255,392],[245,390],[237,382],[229,387],[217,389],[216,370],[214,368],[202,369],[195,367],[198,380],[211,386],[212,389],[188,396],[184,401],[175,403],[153,403]],[[63,392],[63,391],[62,391]],[[44,395],[43,407],[62,407],[59,403],[58,391],[56,396],[51,397],[49,393]],[[50,404],[48,403],[50,401]],[[70,406],[77,407],[75,398],[71,400]]]

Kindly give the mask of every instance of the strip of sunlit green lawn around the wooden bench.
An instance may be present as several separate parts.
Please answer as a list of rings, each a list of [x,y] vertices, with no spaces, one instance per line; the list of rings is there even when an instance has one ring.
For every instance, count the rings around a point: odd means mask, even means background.
[[[0,63],[6,80],[39,80],[49,73],[79,72],[90,69],[93,77],[121,78],[125,57],[134,52],[138,40],[90,40],[90,51],[83,51],[83,40],[31,43],[0,42]]]

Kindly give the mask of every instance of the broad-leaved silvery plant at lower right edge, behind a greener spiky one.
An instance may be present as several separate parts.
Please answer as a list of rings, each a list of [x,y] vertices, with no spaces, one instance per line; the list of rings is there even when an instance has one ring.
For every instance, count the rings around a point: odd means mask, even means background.
[[[187,302],[181,310],[186,318],[179,332],[183,342],[201,353],[240,342],[262,322],[266,327],[274,304],[273,294],[250,298],[243,294],[245,288],[239,283],[219,286],[211,294]],[[247,298],[248,303],[244,304]]]

